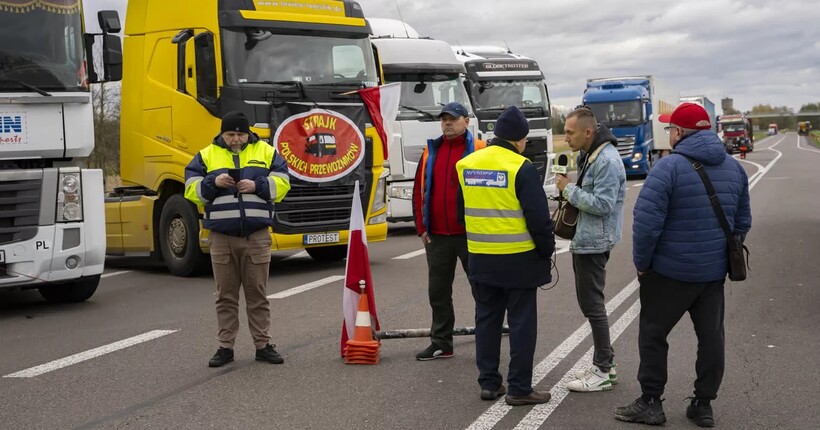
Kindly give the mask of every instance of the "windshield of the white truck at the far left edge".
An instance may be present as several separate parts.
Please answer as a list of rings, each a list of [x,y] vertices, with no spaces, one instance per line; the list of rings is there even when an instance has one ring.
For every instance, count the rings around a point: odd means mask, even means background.
[[[87,91],[79,0],[0,3],[0,91]]]

